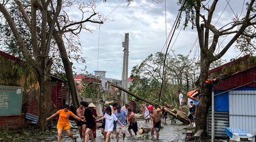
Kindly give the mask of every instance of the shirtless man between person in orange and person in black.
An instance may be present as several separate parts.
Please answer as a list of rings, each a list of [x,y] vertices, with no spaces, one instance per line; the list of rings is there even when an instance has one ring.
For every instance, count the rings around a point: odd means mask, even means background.
[[[76,109],[76,114],[79,118],[83,119],[84,118],[84,106],[83,106],[84,102],[80,102],[80,106],[78,107],[78,109]],[[84,132],[85,132],[85,122],[82,121],[78,121],[77,120],[77,129],[79,130],[79,134],[80,134],[80,138],[83,139],[84,137]]]

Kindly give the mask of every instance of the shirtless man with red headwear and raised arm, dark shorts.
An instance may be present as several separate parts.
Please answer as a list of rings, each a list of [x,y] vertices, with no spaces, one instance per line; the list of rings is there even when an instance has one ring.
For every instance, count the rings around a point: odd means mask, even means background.
[[[163,108],[162,108],[163,109]],[[162,109],[155,109],[153,110],[153,106],[148,106],[148,111],[150,113],[150,120],[151,120],[151,136],[152,139],[154,138],[154,131],[156,131],[156,139],[159,139],[159,131],[161,127],[161,111]]]

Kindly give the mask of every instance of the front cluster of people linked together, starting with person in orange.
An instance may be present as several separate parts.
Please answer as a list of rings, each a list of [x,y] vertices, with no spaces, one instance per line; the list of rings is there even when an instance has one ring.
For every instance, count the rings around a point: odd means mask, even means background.
[[[103,115],[99,116],[97,120],[96,116],[97,111],[94,104],[88,104],[87,102],[81,102],[80,106],[76,109],[76,114],[72,113],[69,110],[68,105],[64,106],[64,109],[60,109],[56,113],[52,114],[46,120],[50,120],[54,116],[58,116],[58,141],[61,141],[62,130],[64,129],[72,141],[76,141],[76,138],[72,136],[70,131],[69,118],[72,116],[77,120],[77,127],[81,139],[88,141],[90,138],[92,141],[95,141],[96,138],[96,127],[97,122],[102,120],[101,133],[104,135],[105,141],[110,141],[111,134],[116,135],[116,141],[119,139],[119,134],[122,133],[123,140],[125,139],[126,125],[128,125],[128,131],[133,136],[136,136],[138,132],[138,124],[136,122],[135,114],[132,112],[129,103],[125,103],[123,107],[114,102],[113,104],[104,104],[102,113]]]

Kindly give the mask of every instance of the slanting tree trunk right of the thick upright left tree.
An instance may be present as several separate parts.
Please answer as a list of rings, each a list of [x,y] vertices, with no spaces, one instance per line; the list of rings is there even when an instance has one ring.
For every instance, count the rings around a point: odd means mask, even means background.
[[[56,40],[56,43],[58,45],[61,59],[65,68],[65,73],[68,81],[68,87],[71,93],[72,103],[75,108],[79,107],[79,100],[77,98],[77,88],[76,83],[74,80],[73,70],[72,70],[72,62],[68,60],[67,51],[65,49],[65,44],[63,42],[62,33],[59,31],[54,30],[53,37]]]

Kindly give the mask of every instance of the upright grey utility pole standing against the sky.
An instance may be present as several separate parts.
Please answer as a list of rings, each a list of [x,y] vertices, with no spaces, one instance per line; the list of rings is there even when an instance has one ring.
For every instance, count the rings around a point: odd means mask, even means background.
[[[125,33],[124,42],[124,61],[123,61],[123,72],[122,72],[122,87],[127,90],[128,88],[128,60],[129,60],[129,33]],[[127,93],[122,91],[121,99],[122,102],[127,102]]]

